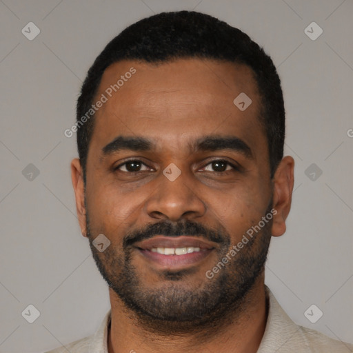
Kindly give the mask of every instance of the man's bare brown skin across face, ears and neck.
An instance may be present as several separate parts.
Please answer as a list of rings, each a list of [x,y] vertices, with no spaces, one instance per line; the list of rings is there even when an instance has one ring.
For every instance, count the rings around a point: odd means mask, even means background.
[[[173,298],[173,291],[175,298],[175,290],[183,301],[192,293],[201,295],[202,290],[210,291],[210,283],[218,286],[219,292],[228,290],[232,295],[228,295],[218,316],[216,310],[213,316],[208,316],[208,321],[214,320],[213,325],[201,320],[201,330],[192,330],[196,321],[192,323],[185,315],[181,322],[163,323],[161,318],[153,316],[157,310],[153,312],[151,305],[149,317],[126,305],[110,288],[112,324],[108,350],[110,353],[130,350],[139,353],[256,352],[266,321],[263,268],[255,276],[250,265],[241,268],[242,262],[236,265],[236,259],[245,256],[250,263],[256,262],[261,250],[267,252],[270,235],[281,236],[285,232],[294,183],[294,160],[284,157],[274,179],[270,179],[267,140],[258,119],[259,92],[247,66],[200,59],[179,59],[159,65],[121,61],[105,70],[97,98],[132,67],[137,72],[95,115],[86,185],[79,159],[71,163],[82,234],[89,237],[91,244],[98,234],[108,237],[111,244],[105,252],[98,252],[91,245],[95,260],[100,261],[107,276],[117,284],[118,280],[133,276],[142,293],[135,295],[139,303],[143,303],[142,296],[150,298],[158,290],[159,297],[163,293],[167,303]],[[241,92],[252,99],[252,104],[243,112],[233,103]],[[119,135],[145,137],[155,146],[149,151],[121,150],[104,155],[104,146]],[[251,157],[234,150],[190,148],[189,143],[208,135],[241,139],[250,147]],[[129,173],[127,165],[114,170],[126,159],[144,163],[139,173]],[[237,168],[227,165],[220,172],[219,165],[212,167],[214,159],[227,161]],[[170,163],[181,171],[174,181],[163,174]],[[236,255],[238,258],[230,261],[213,279],[208,279],[205,272],[212,270],[271,208],[276,210],[272,221],[254,241],[244,245],[239,256]],[[218,230],[220,241],[212,242],[201,233],[214,250],[195,265],[179,268],[182,276],[178,278],[175,269],[162,268],[149,261],[133,246],[124,247],[128,234],[144,234],[148,225],[181,225],[185,221],[197,223],[206,230]],[[253,282],[243,293],[241,274],[247,270]],[[241,299],[236,301],[236,294],[241,294]],[[230,297],[234,299],[232,305]],[[169,313],[174,312],[177,317],[182,310],[176,305],[170,305]],[[199,308],[197,299],[190,301],[186,310],[197,305]],[[209,305],[215,306],[216,299]],[[168,310],[161,310],[162,314],[168,314]],[[178,334],[172,334],[177,330]]]

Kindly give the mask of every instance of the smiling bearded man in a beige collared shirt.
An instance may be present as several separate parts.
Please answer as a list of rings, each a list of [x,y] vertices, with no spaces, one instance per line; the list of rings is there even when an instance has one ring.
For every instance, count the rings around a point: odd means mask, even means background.
[[[52,352],[353,352],[293,323],[264,284],[294,160],[279,77],[248,35],[198,12],[134,23],[94,61],[72,131],[111,310]]]

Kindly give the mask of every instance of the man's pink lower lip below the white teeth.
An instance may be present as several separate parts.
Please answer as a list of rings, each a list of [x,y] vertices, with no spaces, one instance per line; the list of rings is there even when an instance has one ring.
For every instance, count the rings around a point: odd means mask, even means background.
[[[188,265],[199,263],[212,252],[212,249],[200,250],[199,252],[191,252],[190,254],[184,255],[165,255],[143,249],[139,249],[139,252],[147,259],[161,265],[163,268],[180,269]]]

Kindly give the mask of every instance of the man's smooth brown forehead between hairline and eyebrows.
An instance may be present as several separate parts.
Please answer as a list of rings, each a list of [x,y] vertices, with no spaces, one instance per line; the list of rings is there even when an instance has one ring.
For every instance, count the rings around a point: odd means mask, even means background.
[[[252,102],[243,111],[234,104],[239,94]],[[264,135],[259,92],[246,65],[201,59],[158,65],[120,61],[103,73],[94,102],[103,96],[106,101],[94,118],[95,148],[124,134],[148,137],[157,147],[171,149],[212,133],[253,143],[256,134]]]

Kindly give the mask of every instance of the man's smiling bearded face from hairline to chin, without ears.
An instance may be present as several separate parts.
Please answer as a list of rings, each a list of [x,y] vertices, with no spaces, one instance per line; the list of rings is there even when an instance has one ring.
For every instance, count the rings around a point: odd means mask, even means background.
[[[242,92],[252,100],[243,111],[233,103]],[[269,221],[212,279],[205,275],[272,208],[252,71],[199,59],[122,61],[105,70],[94,102],[101,94],[108,101],[94,118],[84,219],[99,270],[141,316],[224,312],[259,278],[271,235]],[[92,246],[99,234],[110,241],[103,252]]]

